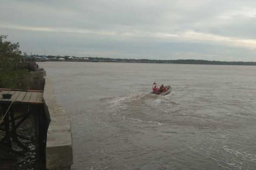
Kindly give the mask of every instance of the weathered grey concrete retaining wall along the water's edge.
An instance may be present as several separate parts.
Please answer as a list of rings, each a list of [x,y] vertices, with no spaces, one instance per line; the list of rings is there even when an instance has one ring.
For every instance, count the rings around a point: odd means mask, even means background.
[[[45,78],[43,99],[49,124],[46,141],[46,168],[70,169],[73,164],[70,118],[57,103],[53,81],[49,78]]]

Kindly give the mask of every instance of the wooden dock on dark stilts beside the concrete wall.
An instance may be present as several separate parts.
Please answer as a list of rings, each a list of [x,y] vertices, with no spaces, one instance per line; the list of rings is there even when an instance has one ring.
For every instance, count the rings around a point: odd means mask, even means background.
[[[10,99],[4,99],[2,94],[11,94],[12,96]],[[4,136],[0,139],[0,146],[13,153],[17,153],[12,147],[14,143],[23,151],[29,150],[26,142],[22,141],[32,142],[31,139],[23,134],[17,134],[17,129],[27,118],[33,116],[35,158],[39,160],[40,151],[43,151],[44,141],[46,140],[46,135],[44,135],[46,134],[44,123],[46,118],[44,114],[43,91],[0,88],[0,108],[2,112],[2,116],[0,113],[0,130],[4,132]],[[15,108],[23,108],[23,114],[16,115],[14,112]]]

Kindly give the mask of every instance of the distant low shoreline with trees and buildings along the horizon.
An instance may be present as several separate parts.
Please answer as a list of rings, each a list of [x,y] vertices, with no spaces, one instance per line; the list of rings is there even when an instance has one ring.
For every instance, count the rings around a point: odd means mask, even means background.
[[[150,59],[123,59],[103,57],[75,57],[75,56],[24,56],[26,61],[34,62],[108,62],[108,63],[162,63],[162,64],[201,64],[201,65],[241,65],[256,66],[256,62],[223,62],[209,60],[150,60]]]

